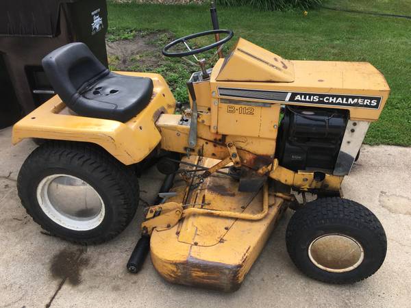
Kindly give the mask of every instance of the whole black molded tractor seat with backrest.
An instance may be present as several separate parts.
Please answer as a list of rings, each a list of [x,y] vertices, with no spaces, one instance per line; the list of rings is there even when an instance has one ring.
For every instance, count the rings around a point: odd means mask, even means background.
[[[66,44],[42,66],[55,93],[79,116],[127,122],[151,101],[153,81],[110,72],[86,44]]]

